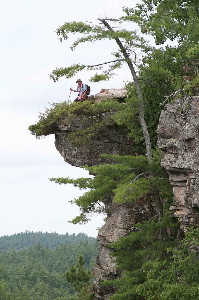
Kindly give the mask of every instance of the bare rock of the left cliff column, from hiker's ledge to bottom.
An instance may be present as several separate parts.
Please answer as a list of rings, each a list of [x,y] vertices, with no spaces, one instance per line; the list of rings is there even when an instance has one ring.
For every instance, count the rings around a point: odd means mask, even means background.
[[[123,101],[125,89],[102,89],[95,95],[95,102],[100,102],[105,98],[116,98]],[[91,97],[93,99],[93,97]],[[89,98],[88,98],[89,100]],[[77,120],[76,120],[77,121]],[[55,147],[64,158],[64,161],[73,166],[95,166],[107,164],[107,160],[99,155],[103,153],[124,155],[132,147],[132,140],[126,137],[127,131],[124,127],[115,126],[113,122],[109,126],[99,128],[95,135],[89,140],[87,145],[72,146],[67,140],[68,134],[79,131],[82,128],[81,122],[63,122],[56,124],[57,132],[55,134]],[[53,129],[53,133],[54,130]],[[115,279],[120,276],[115,267],[114,259],[110,256],[110,250],[105,244],[111,244],[118,238],[126,236],[134,230],[135,223],[142,223],[143,220],[149,220],[156,214],[153,210],[150,196],[131,204],[118,205],[112,203],[112,196],[109,196],[110,203],[108,210],[111,214],[108,216],[105,224],[100,228],[97,239],[100,241],[100,254],[96,257],[96,267],[94,275],[96,281],[94,284],[95,298],[108,299],[113,295],[114,288],[105,288],[101,286],[101,281],[105,279]]]

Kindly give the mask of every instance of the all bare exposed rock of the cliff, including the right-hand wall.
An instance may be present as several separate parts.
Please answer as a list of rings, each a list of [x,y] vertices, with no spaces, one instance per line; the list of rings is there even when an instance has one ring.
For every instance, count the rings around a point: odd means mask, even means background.
[[[101,90],[95,95],[95,101],[104,98],[117,98],[123,101],[125,89]],[[93,99],[91,97],[90,99]],[[89,99],[88,99],[89,100]],[[167,104],[162,111],[158,127],[158,146],[163,151],[162,166],[167,170],[171,184],[174,186],[174,204],[170,207],[171,216],[180,219],[179,235],[187,226],[199,226],[199,97],[184,97]],[[94,166],[107,163],[99,155],[102,153],[123,155],[133,145],[126,138],[126,128],[105,126],[95,133],[89,146],[72,146],[67,140],[68,134],[79,131],[81,122],[75,124],[59,121],[56,124],[55,146],[64,161],[74,166]],[[54,133],[54,132],[53,132]],[[99,229],[97,239],[100,241],[100,254],[94,267],[95,300],[108,299],[114,294],[113,288],[101,286],[101,281],[120,276],[114,258],[110,256],[106,244],[111,244],[121,236],[134,230],[135,223],[149,220],[154,214],[150,196],[131,204],[112,203],[110,195],[106,223]]]

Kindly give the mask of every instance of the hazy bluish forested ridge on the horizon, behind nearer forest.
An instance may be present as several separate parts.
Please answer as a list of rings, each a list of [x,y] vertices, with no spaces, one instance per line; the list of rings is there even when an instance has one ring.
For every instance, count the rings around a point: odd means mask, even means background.
[[[57,232],[33,232],[25,231],[24,233],[14,233],[10,236],[4,235],[0,237],[0,250],[3,252],[12,251],[13,249],[21,250],[24,247],[37,245],[41,243],[44,247],[49,246],[51,249],[55,249],[60,244],[77,244],[80,241],[94,243],[96,238],[89,237],[85,233],[79,233],[75,235],[58,234]]]

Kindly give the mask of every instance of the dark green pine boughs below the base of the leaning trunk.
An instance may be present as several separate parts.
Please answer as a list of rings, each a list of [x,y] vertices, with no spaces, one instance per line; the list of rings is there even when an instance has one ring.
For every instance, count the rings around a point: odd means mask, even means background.
[[[155,220],[155,219],[154,219]],[[160,231],[165,228],[174,228],[175,223],[165,211],[162,222],[135,224],[134,231],[128,236],[120,238],[111,245],[106,245],[114,252],[111,253],[117,262],[117,268],[121,271],[121,277],[111,281],[104,281],[105,286],[115,286],[117,291],[111,300],[135,300],[142,299],[137,292],[138,284],[146,280],[146,266],[148,262],[164,261],[168,259],[166,247],[174,247],[173,238],[168,241],[161,238]],[[141,295],[142,296],[142,295]],[[158,298],[156,298],[158,299]]]

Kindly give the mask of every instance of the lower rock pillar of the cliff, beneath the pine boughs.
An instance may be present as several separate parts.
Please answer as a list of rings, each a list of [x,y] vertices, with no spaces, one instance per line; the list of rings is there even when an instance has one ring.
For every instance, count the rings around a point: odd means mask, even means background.
[[[135,230],[135,223],[142,223],[154,216],[155,211],[151,205],[150,196],[146,196],[140,201],[129,204],[118,205],[113,203],[112,215],[99,229],[97,239],[100,241],[100,254],[96,257],[96,267],[93,269],[95,281],[94,300],[106,300],[110,295],[114,295],[115,289],[101,286],[103,280],[113,280],[120,277],[120,272],[116,268],[114,257],[110,256],[110,249],[106,244],[111,244],[118,238],[126,236]]]

